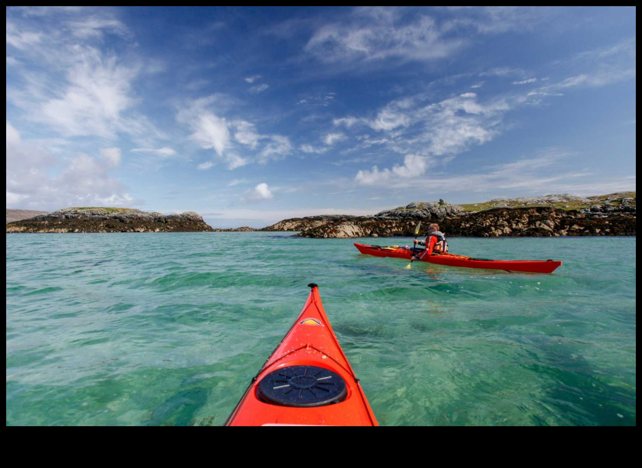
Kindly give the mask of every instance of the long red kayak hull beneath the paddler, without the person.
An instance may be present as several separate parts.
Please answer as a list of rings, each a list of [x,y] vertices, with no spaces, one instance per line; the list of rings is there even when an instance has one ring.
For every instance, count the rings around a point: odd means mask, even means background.
[[[375,257],[394,257],[410,260],[413,253],[412,249],[406,249],[399,246],[365,246],[363,244],[357,244],[356,242],[354,243],[354,246],[358,248],[361,253],[374,255]],[[555,260],[488,260],[487,258],[465,257],[464,255],[455,255],[452,253],[424,255],[424,257],[421,258],[421,261],[451,267],[525,271],[528,273],[552,273],[562,264],[562,262]]]

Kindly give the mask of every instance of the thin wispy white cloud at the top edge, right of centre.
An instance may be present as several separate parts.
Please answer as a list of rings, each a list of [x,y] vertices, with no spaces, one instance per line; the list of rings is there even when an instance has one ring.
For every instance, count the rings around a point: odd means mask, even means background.
[[[315,31],[305,50],[322,62],[430,60],[447,57],[462,46],[462,40],[444,37],[431,17],[403,20],[394,8],[357,8],[351,22],[325,24]]]

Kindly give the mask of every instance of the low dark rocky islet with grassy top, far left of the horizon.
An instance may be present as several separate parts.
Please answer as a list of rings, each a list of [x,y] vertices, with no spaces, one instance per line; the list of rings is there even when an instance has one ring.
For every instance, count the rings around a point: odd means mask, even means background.
[[[46,215],[10,222],[8,233],[200,232],[213,231],[201,215],[164,215],[132,208],[64,208]]]

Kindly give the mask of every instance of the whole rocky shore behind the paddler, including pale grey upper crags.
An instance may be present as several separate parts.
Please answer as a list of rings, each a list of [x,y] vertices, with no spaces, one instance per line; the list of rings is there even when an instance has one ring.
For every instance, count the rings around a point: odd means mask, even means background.
[[[537,206],[538,203],[552,206]],[[424,225],[437,222],[450,237],[636,235],[635,192],[589,198],[545,195],[498,199],[486,204],[493,207],[474,211],[471,208],[477,204],[460,206],[444,200],[413,202],[372,217],[331,215],[286,219],[263,231],[300,231],[295,236],[314,238],[414,237],[415,226],[421,221]],[[528,206],[530,204],[535,206]],[[578,209],[569,209],[571,204]]]

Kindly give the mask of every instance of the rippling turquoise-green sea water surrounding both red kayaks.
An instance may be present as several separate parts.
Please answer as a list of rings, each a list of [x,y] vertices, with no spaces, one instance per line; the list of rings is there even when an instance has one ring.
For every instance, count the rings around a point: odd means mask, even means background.
[[[353,241],[7,235],[6,424],[223,424],[309,282],[381,425],[636,424],[635,238],[450,240],[552,275],[406,270]]]

